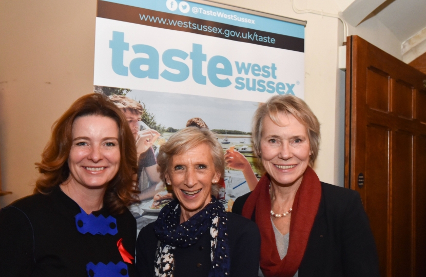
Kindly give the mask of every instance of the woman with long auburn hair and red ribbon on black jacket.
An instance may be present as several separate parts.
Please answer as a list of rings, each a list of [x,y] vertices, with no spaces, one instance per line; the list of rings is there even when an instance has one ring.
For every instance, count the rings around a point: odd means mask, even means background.
[[[75,101],[36,163],[34,194],[0,210],[0,276],[135,276],[134,138],[102,94]]]

